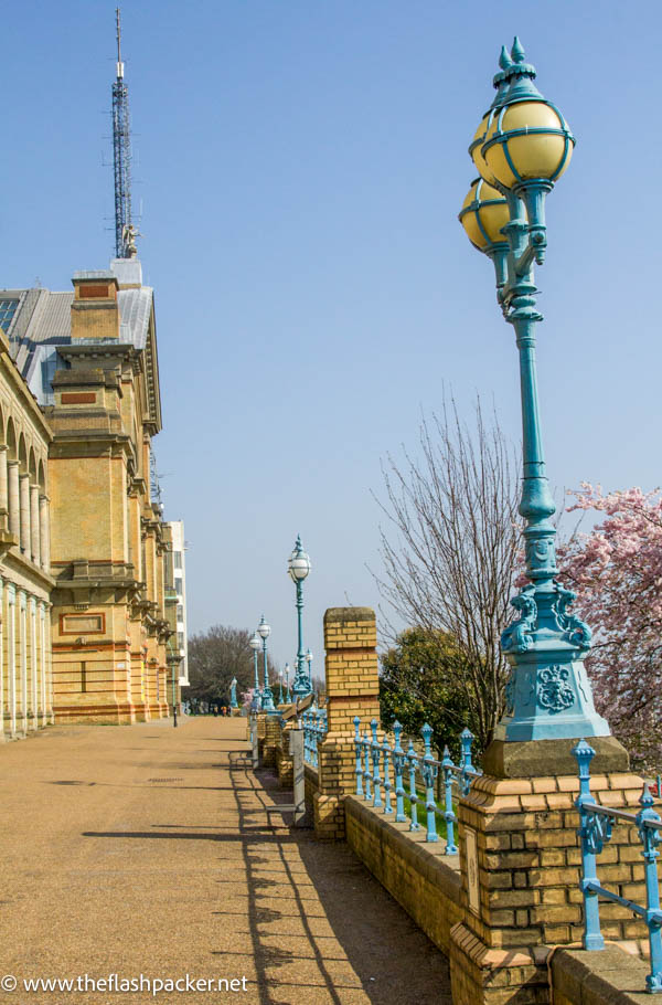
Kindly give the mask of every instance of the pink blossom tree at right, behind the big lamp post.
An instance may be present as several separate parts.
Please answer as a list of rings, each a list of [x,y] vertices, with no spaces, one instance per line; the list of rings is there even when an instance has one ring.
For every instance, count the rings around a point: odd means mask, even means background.
[[[634,764],[662,768],[662,494],[605,495],[583,483],[568,512],[597,510],[590,533],[559,547],[559,579],[594,631],[586,667],[598,711]]]

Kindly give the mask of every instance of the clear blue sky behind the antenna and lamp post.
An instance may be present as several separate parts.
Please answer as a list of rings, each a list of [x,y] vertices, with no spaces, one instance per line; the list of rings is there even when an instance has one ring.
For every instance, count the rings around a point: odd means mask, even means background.
[[[156,288],[167,516],[183,518],[192,631],[266,614],[295,652],[287,557],[328,606],[376,606],[380,458],[449,383],[520,435],[493,274],[457,223],[467,146],[517,33],[577,136],[538,273],[551,480],[660,477],[659,0],[129,0],[135,204]],[[0,285],[71,288],[113,253],[115,3],[3,19]]]

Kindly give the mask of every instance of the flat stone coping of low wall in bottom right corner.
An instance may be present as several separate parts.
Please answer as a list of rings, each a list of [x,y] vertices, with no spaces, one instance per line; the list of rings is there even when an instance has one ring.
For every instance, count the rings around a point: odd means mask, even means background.
[[[551,956],[554,1005],[650,1005],[650,967],[618,945],[587,952],[557,949]]]

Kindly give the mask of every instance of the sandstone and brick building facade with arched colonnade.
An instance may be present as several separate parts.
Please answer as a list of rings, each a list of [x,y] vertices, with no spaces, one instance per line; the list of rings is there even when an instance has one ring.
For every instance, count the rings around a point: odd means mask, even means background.
[[[153,292],[136,257],[73,287],[0,290],[3,737],[162,717],[179,675]]]

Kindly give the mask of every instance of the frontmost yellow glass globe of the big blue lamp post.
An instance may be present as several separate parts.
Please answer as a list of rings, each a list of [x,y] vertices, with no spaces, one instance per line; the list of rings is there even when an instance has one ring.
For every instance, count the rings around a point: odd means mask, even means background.
[[[555,182],[570,162],[574,146],[575,138],[554,105],[523,100],[499,109],[488,126],[481,157],[493,178],[506,189],[516,189],[537,179]]]

